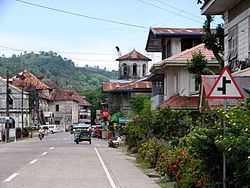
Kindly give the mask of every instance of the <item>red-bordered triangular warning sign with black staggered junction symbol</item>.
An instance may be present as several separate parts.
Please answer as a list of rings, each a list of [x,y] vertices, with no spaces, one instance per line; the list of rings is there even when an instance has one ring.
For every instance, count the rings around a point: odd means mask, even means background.
[[[208,99],[243,99],[244,96],[240,91],[237,83],[232,77],[229,69],[224,67],[219,78],[216,80]]]

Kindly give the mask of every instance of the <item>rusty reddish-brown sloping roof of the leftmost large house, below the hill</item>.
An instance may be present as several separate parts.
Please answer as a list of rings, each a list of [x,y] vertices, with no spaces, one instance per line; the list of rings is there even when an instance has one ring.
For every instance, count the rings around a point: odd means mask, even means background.
[[[23,78],[21,78],[23,77]],[[18,76],[13,77],[13,84],[15,84],[15,80],[24,80],[26,86],[33,86],[36,89],[50,89],[47,85],[45,85],[41,80],[31,74],[28,70],[24,70],[19,73]]]

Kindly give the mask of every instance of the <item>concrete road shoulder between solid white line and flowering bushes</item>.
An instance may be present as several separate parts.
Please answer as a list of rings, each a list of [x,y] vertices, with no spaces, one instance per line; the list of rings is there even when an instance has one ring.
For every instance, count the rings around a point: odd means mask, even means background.
[[[121,149],[108,148],[107,141],[98,140],[102,147],[98,151],[106,164],[108,171],[117,187],[122,188],[159,188],[160,186],[144,174],[135,165],[132,157],[129,157]]]

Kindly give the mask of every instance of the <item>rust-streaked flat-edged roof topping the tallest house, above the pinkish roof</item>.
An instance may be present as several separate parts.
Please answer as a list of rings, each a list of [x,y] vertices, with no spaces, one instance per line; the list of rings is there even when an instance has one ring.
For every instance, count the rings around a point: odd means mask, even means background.
[[[203,34],[202,28],[152,28],[154,34]]]

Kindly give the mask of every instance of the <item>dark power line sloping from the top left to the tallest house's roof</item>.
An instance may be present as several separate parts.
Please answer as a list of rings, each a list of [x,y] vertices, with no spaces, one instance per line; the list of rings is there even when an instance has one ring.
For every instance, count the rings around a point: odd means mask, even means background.
[[[28,1],[22,1],[22,0],[16,0],[16,1],[19,3],[23,3],[23,4],[43,8],[43,9],[48,9],[48,10],[52,10],[52,11],[56,11],[56,12],[60,12],[60,13],[65,13],[65,14],[69,14],[69,15],[73,15],[73,16],[83,17],[83,18],[87,18],[87,19],[108,22],[108,23],[113,23],[113,24],[119,24],[119,25],[125,25],[125,26],[129,26],[129,27],[136,27],[136,28],[140,28],[140,29],[149,29],[149,27],[145,27],[145,26],[141,26],[141,25],[135,25],[135,24],[125,23],[125,22],[97,18],[97,17],[88,16],[88,15],[79,14],[79,13],[74,13],[74,12],[70,12],[70,11],[66,11],[66,10],[62,10],[62,9],[57,9],[57,8],[52,8],[52,7],[48,7],[48,6],[44,6],[44,5],[30,3]]]

